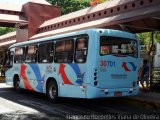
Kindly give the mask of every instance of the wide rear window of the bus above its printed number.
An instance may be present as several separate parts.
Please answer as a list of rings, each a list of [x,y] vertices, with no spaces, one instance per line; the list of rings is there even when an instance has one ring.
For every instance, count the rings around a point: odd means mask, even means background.
[[[137,57],[137,41],[128,38],[101,36],[100,55]]]

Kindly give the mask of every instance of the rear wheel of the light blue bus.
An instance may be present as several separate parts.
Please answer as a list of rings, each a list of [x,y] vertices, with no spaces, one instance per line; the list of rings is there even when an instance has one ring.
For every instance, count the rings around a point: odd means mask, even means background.
[[[58,87],[56,82],[50,81],[47,85],[47,97],[51,102],[56,102],[58,98]]]

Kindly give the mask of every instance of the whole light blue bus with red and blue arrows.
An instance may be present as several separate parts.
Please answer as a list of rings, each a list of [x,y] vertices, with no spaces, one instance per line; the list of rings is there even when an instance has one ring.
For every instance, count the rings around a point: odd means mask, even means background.
[[[139,41],[134,34],[87,29],[16,43],[7,53],[6,83],[58,97],[137,95]]]

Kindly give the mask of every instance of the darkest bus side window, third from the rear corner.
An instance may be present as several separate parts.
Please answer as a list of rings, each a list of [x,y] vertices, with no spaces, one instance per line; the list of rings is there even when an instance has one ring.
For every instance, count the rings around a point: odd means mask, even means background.
[[[38,49],[38,62],[51,63],[54,55],[54,43],[40,44]]]

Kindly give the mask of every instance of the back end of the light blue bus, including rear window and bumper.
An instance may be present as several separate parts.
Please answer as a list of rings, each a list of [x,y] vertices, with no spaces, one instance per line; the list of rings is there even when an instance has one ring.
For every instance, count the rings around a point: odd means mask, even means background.
[[[101,36],[93,84],[87,86],[87,98],[137,95],[139,54],[134,38]]]

